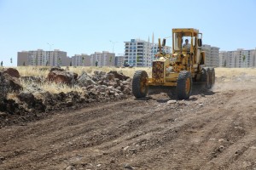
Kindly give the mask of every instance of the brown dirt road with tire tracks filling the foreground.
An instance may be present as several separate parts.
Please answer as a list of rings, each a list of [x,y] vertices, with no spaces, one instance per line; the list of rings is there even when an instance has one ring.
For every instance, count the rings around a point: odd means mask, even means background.
[[[0,129],[0,169],[256,169],[255,82],[91,105]]]

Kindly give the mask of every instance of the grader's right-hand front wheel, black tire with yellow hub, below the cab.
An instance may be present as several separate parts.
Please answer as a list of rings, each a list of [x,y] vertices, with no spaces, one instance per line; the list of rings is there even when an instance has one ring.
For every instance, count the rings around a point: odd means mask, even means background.
[[[191,92],[191,73],[189,71],[180,71],[177,77],[177,99],[189,99]]]

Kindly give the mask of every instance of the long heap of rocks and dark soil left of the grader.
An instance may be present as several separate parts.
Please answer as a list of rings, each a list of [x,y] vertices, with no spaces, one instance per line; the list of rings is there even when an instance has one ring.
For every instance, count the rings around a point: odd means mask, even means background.
[[[0,127],[13,123],[23,123],[44,117],[51,111],[75,110],[95,102],[107,102],[111,100],[127,99],[131,96],[131,79],[118,72],[95,72],[89,76],[83,72],[79,77],[61,68],[52,68],[48,77],[10,77],[9,74],[0,72],[1,83],[1,110],[3,114]],[[3,76],[4,75],[4,76]],[[119,79],[119,78],[121,79]],[[20,80],[26,83],[26,88],[21,90]],[[50,94],[43,88],[42,83],[51,81],[82,88],[81,91]],[[7,95],[16,92],[11,99]],[[19,120],[17,120],[19,117]]]

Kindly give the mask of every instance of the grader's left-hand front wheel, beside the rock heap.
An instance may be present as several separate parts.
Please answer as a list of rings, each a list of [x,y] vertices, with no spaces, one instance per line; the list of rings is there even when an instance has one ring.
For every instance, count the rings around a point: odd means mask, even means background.
[[[146,71],[136,71],[132,79],[132,94],[137,98],[143,98],[148,94],[147,80],[148,73]]]

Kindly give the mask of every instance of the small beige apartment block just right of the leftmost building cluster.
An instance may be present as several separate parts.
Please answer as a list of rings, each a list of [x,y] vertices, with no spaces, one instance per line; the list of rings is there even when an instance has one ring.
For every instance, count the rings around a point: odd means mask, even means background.
[[[91,66],[90,55],[88,54],[75,54],[72,57],[73,66]]]

